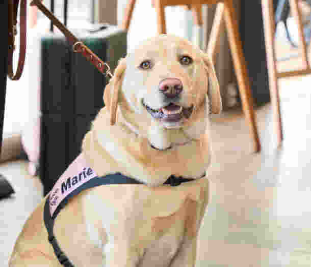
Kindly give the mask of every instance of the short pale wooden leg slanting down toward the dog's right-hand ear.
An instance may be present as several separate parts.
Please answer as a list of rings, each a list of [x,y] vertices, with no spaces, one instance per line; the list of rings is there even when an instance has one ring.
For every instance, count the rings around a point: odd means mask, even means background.
[[[213,27],[209,38],[208,48],[206,49],[206,53],[208,53],[209,57],[214,60],[214,56],[216,53],[216,49],[218,46],[219,34],[221,32],[223,26],[223,14],[224,14],[224,4],[217,4],[215,17],[213,21]]]

